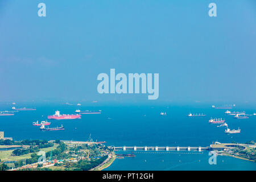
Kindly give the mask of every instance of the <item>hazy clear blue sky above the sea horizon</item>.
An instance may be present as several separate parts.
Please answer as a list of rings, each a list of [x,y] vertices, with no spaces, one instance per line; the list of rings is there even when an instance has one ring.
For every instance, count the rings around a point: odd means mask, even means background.
[[[159,73],[159,102],[255,102],[255,22],[253,0],[0,1],[0,101],[147,102],[98,94],[115,68]]]

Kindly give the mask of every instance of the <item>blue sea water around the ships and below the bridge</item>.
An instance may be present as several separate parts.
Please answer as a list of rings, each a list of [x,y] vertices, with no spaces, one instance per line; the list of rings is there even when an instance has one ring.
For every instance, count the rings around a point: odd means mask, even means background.
[[[36,107],[36,111],[19,111],[14,116],[0,116],[0,131],[5,137],[22,139],[88,140],[106,141],[109,146],[209,146],[212,142],[246,142],[256,139],[256,117],[234,119],[224,114],[225,109],[212,109],[210,105],[100,105],[82,104],[20,104],[16,107]],[[10,110],[11,105],[1,104],[0,110]],[[233,111],[245,110],[253,114],[255,107],[241,105]],[[81,119],[51,121],[50,127],[65,127],[64,131],[40,131],[32,126],[34,121],[43,121],[55,110],[61,114],[73,114],[76,109],[102,110],[102,114],[83,114]],[[160,112],[167,115],[160,115]],[[187,114],[205,113],[207,117],[189,118]],[[224,127],[210,125],[208,120],[225,118],[230,129],[240,134],[225,134]],[[77,129],[75,129],[77,128]],[[181,151],[180,151],[181,152]],[[218,156],[217,165],[209,165],[208,152],[200,154],[136,154],[135,158],[117,159],[108,170],[255,170],[256,163],[226,156]],[[179,159],[179,160],[178,160]],[[145,162],[146,160],[146,162]]]

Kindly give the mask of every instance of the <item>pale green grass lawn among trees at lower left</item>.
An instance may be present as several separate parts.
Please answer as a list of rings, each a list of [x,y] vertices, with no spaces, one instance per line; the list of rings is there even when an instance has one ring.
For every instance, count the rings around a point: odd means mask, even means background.
[[[59,144],[54,144],[53,148],[52,147],[40,148],[40,150],[48,152],[51,150],[55,150],[57,146],[59,146]],[[11,152],[13,152],[13,150],[0,151],[1,161],[5,162],[5,161],[14,161],[14,160],[16,161],[16,160],[28,159],[28,158],[31,158],[31,154],[38,154],[38,152],[34,152],[34,153],[29,153],[29,154],[20,155],[20,156],[11,156]]]

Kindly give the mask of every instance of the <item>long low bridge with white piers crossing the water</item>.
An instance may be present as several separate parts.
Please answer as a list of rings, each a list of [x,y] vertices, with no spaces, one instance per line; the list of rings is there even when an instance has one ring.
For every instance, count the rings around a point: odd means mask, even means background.
[[[210,147],[137,147],[137,146],[133,146],[133,147],[127,147],[127,146],[122,146],[122,147],[113,147],[114,150],[133,150],[133,151],[203,151],[203,150],[210,150]]]

